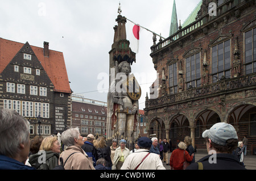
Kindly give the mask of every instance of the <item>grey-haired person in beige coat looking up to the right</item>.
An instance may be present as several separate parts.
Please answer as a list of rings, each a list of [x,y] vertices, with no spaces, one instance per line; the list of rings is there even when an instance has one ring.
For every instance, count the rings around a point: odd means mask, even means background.
[[[61,134],[61,141],[68,146],[60,154],[63,162],[67,161],[64,165],[65,170],[95,170],[88,159],[88,155],[81,148],[84,145],[84,141],[82,141],[79,128],[69,128],[64,131]]]

